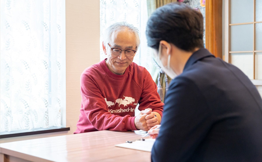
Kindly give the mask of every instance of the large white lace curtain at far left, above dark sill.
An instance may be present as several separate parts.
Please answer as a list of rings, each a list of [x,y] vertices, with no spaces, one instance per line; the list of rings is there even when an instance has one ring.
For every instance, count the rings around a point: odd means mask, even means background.
[[[1,132],[61,126],[64,0],[1,0]]]

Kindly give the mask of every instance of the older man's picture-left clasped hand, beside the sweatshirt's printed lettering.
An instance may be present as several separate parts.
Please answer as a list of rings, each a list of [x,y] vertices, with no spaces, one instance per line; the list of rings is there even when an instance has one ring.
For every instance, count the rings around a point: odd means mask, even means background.
[[[151,108],[142,110],[140,112],[140,114],[135,117],[135,126],[136,126],[137,129],[141,129],[141,130],[144,130],[144,131],[149,130],[148,125],[147,125],[148,123],[147,123],[147,120],[146,120],[146,116],[149,115],[149,114],[153,114]]]

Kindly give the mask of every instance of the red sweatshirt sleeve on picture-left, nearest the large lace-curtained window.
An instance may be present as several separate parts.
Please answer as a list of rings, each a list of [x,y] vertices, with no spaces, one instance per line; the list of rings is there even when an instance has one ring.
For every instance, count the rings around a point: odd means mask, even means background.
[[[97,130],[137,130],[134,123],[135,117],[119,116],[108,112],[98,83],[86,73],[81,75],[81,96],[84,120],[88,120]]]

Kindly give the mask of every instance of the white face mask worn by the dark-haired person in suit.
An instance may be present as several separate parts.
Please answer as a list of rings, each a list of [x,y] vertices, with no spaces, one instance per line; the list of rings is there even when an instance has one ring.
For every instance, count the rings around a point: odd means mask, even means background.
[[[170,44],[169,44],[170,45]],[[171,46],[171,45],[170,45]],[[163,71],[168,75],[170,78],[174,79],[176,77],[175,72],[170,68],[170,57],[171,55],[168,55],[167,58],[167,66],[164,66],[162,64],[162,61],[160,59],[161,57],[161,51],[162,51],[162,46],[159,44],[159,49],[158,49],[158,56],[156,57],[156,61],[158,65],[163,69]]]

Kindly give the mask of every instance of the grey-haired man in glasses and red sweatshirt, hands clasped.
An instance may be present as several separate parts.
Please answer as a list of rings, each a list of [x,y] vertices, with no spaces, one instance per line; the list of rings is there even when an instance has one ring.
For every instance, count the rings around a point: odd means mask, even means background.
[[[106,30],[105,60],[81,75],[82,103],[77,130],[149,130],[161,122],[163,103],[149,72],[133,59],[140,45],[133,25],[116,23]],[[141,113],[135,117],[139,104]]]

